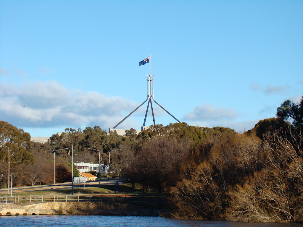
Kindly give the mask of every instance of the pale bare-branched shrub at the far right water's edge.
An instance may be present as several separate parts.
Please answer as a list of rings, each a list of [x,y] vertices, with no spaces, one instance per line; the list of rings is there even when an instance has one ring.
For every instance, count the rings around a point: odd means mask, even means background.
[[[292,138],[290,138],[292,139]],[[225,218],[232,221],[302,221],[303,159],[300,146],[279,132],[265,135],[260,147],[263,168],[227,195]],[[260,160],[256,155],[255,160]]]

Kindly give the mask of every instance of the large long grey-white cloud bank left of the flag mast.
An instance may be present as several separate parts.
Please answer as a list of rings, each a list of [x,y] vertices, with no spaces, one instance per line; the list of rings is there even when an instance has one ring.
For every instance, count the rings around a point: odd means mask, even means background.
[[[122,97],[71,91],[55,81],[21,87],[0,83],[0,118],[18,127],[112,127],[138,105]]]

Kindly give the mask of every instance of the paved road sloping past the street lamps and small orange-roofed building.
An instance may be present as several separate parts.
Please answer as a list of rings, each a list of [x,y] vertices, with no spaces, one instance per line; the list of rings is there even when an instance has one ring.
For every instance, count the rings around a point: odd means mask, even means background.
[[[112,185],[116,182],[121,182],[121,179],[118,178],[106,178],[101,179],[102,185]],[[88,181],[85,183],[85,187],[98,187],[99,186],[99,180],[97,181]],[[76,185],[78,188],[79,185]],[[74,185],[75,188],[75,185]],[[81,188],[83,188],[83,184],[81,184]],[[58,189],[72,189],[72,182],[66,182],[66,183],[58,183],[58,184],[50,184],[50,185],[36,185],[36,186],[27,186],[27,187],[20,187],[20,188],[13,188],[12,193],[15,192],[32,192],[32,191],[46,191],[46,190],[58,190]],[[7,193],[6,189],[0,189],[0,194]]]

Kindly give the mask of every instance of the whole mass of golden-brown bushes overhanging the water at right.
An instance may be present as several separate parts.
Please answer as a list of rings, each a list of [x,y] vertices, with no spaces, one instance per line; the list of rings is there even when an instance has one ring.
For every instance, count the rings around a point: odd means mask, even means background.
[[[302,221],[302,137],[289,134],[266,134],[263,141],[245,134],[221,138],[200,149],[201,153],[193,153],[181,165],[185,174],[171,190],[171,215],[246,222]]]

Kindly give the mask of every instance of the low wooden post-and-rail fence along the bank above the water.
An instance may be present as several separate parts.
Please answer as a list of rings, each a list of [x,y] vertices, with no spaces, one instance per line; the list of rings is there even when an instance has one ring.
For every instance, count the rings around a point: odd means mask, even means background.
[[[14,197],[14,196],[13,196]],[[1,197],[0,197],[1,198]],[[15,196],[16,202],[165,202],[166,197],[153,196]]]

